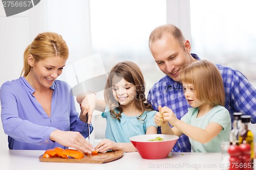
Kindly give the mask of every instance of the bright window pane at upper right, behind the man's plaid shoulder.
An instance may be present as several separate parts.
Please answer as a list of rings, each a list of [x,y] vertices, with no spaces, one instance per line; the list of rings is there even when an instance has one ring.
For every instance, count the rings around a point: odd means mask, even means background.
[[[202,59],[240,70],[256,87],[253,0],[190,1],[191,46]]]

